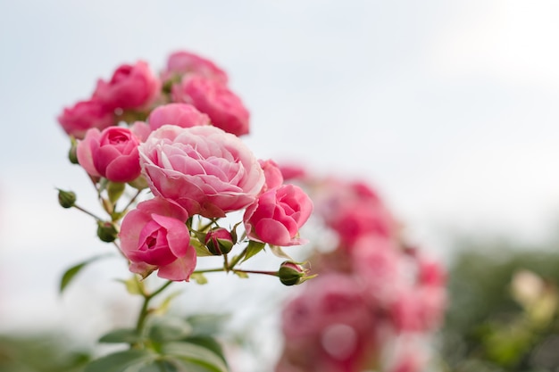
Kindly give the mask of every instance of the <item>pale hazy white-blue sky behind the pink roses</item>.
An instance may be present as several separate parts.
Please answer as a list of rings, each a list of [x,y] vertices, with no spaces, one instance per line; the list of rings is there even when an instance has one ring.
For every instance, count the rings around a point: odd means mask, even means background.
[[[0,14],[0,329],[95,303],[54,295],[64,268],[108,250],[56,203],[55,186],[91,191],[56,115],[119,64],[159,70],[178,49],[229,72],[257,156],[370,180],[432,252],[448,229],[537,240],[559,214],[555,1],[4,0]]]

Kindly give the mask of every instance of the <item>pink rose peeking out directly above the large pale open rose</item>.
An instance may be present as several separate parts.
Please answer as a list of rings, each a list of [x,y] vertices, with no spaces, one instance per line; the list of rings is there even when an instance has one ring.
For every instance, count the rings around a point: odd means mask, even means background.
[[[209,125],[210,118],[196,110],[188,103],[169,103],[158,106],[149,114],[147,119],[152,130],[163,127],[165,124],[177,125],[182,128],[190,128],[201,125]]]

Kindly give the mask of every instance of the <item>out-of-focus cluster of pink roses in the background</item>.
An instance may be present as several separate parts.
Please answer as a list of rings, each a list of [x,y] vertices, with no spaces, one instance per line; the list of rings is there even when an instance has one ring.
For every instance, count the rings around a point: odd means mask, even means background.
[[[446,273],[405,242],[370,186],[284,168],[310,190],[330,243],[310,257],[318,277],[282,311],[277,372],[417,372],[446,306]]]

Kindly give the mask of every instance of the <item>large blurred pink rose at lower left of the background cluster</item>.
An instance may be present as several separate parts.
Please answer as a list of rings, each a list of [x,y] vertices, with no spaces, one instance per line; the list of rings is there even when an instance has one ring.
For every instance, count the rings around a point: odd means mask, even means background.
[[[283,355],[276,371],[363,370],[374,356],[376,315],[353,277],[323,274],[282,312]]]

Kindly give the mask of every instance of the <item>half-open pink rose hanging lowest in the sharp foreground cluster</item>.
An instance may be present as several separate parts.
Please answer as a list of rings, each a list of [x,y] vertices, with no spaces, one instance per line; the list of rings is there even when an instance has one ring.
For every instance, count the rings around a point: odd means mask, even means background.
[[[188,213],[179,205],[155,197],[129,211],[121,225],[121,251],[130,260],[130,271],[188,281],[196,268],[196,250],[190,245],[185,224]]]

